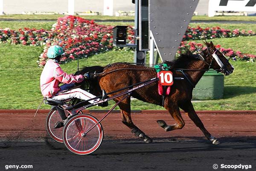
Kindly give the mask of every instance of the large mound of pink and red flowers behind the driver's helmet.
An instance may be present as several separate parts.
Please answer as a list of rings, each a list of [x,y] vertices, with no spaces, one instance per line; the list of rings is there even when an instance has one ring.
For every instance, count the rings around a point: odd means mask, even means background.
[[[61,63],[66,63],[88,55],[106,52],[113,48],[112,26],[103,26],[93,20],[84,20],[81,17],[65,16],[58,18],[55,28],[49,35],[49,40],[40,55],[39,66],[44,66],[47,60],[47,49],[52,44],[63,47],[66,55]]]

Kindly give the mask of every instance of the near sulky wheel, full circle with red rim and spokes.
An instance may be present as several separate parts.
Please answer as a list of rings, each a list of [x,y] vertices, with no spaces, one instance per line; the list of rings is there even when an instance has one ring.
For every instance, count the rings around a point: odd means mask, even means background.
[[[103,128],[99,123],[87,134],[84,133],[92,128],[98,120],[88,114],[72,116],[64,126],[64,144],[71,152],[86,155],[96,151],[102,143]]]

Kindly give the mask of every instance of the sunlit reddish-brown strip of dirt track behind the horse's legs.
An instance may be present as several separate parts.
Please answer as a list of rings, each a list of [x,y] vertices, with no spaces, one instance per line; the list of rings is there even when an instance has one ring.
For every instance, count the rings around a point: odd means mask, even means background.
[[[13,140],[47,136],[45,130],[47,111],[39,110],[40,113],[34,118],[35,110],[0,110],[0,138]],[[99,112],[84,111],[84,113],[89,113],[98,120],[104,116],[104,113]],[[156,121],[163,119],[168,125],[175,124],[169,113],[163,110],[145,110],[131,114],[134,124],[152,138],[204,136],[186,114],[182,116],[185,121],[182,130],[165,132]],[[198,116],[205,128],[215,137],[256,136],[256,111],[198,111]],[[109,114],[102,121],[102,126],[105,139],[134,138],[131,130],[121,122],[121,116],[117,112]]]

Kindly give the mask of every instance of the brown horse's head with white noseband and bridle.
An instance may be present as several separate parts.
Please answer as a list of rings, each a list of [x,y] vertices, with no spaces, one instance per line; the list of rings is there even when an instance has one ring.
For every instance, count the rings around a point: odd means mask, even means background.
[[[209,61],[209,68],[213,70],[219,70],[221,73],[225,75],[230,75],[234,67],[229,63],[228,59],[215,48],[212,41],[210,43],[205,42],[207,49],[204,50],[204,56]]]

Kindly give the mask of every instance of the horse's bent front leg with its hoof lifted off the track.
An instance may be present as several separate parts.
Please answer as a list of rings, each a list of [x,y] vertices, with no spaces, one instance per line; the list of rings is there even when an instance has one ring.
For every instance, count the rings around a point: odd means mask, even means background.
[[[160,127],[162,127],[165,131],[182,129],[183,126],[185,125],[185,122],[181,117],[180,109],[177,106],[177,104],[166,105],[165,108],[169,111],[169,113],[177,123],[174,125],[167,125],[165,121],[158,120],[157,121],[158,125],[160,125]]]

